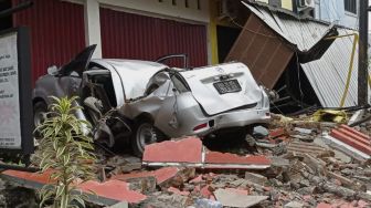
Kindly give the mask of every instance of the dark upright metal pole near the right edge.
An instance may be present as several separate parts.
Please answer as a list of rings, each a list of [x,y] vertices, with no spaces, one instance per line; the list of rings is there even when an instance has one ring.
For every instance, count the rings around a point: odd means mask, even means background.
[[[358,105],[368,104],[368,30],[369,30],[369,0],[359,0],[359,61],[358,61]]]

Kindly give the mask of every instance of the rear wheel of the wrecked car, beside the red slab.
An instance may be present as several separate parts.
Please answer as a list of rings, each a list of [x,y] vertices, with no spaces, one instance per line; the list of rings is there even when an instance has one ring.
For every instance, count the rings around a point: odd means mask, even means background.
[[[166,136],[149,121],[141,121],[135,125],[131,136],[131,148],[136,156],[141,157],[145,146],[165,141]]]

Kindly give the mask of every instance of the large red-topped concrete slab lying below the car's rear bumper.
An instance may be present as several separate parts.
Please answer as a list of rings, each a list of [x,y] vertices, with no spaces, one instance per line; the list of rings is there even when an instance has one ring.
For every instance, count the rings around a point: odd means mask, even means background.
[[[209,152],[202,146],[200,138],[187,137],[178,142],[162,142],[146,146],[142,164],[157,167],[265,169],[271,166],[271,160],[263,155],[239,156],[229,153]]]

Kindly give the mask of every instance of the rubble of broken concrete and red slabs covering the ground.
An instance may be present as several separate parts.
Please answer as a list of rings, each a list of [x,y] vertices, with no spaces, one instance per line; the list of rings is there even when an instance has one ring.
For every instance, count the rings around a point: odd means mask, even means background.
[[[192,136],[148,145],[142,160],[102,157],[104,181],[80,187],[97,194],[91,201],[114,207],[371,207],[371,124],[273,119],[236,149],[208,149]],[[26,188],[50,183],[47,174],[1,175]]]

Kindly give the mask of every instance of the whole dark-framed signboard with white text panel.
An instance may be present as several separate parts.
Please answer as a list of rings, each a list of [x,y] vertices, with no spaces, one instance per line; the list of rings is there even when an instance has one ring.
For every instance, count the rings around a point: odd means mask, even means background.
[[[33,152],[29,30],[0,32],[0,153]]]

